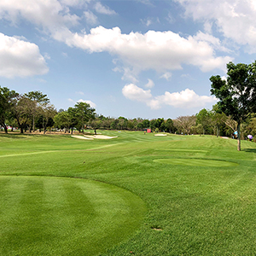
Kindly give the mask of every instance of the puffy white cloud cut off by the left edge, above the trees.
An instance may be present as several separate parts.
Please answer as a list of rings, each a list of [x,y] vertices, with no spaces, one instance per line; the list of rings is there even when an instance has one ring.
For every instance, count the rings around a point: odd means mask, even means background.
[[[0,33],[0,76],[6,78],[48,73],[38,45]]]

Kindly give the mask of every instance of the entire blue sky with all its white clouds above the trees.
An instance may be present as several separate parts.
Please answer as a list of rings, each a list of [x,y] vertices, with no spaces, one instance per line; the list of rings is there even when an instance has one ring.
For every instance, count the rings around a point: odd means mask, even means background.
[[[0,85],[55,108],[172,118],[212,109],[209,78],[256,53],[254,0],[0,2]]]

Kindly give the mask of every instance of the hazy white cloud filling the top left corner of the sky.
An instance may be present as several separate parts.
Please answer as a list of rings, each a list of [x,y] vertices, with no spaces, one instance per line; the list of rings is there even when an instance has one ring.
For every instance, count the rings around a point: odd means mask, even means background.
[[[70,33],[69,28],[79,25],[81,17],[73,15],[69,6],[81,6],[82,0],[8,0],[0,1],[0,19],[19,24],[25,19],[53,38],[60,39]]]

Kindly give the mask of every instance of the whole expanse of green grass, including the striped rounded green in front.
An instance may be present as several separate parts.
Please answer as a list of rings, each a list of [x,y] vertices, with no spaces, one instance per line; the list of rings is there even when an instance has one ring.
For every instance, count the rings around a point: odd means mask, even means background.
[[[255,143],[102,133],[0,135],[0,254],[253,255]]]

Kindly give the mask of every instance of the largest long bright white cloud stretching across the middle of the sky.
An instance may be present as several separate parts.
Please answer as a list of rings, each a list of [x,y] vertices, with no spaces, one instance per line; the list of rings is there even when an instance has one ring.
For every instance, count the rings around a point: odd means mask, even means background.
[[[182,69],[183,64],[199,67],[203,72],[215,68],[225,70],[226,63],[232,60],[230,56],[216,57],[212,45],[201,38],[182,38],[171,31],[122,34],[119,27],[97,26],[90,34],[70,33],[64,41],[90,53],[107,51],[117,55],[134,73],[148,69],[166,73]]]

